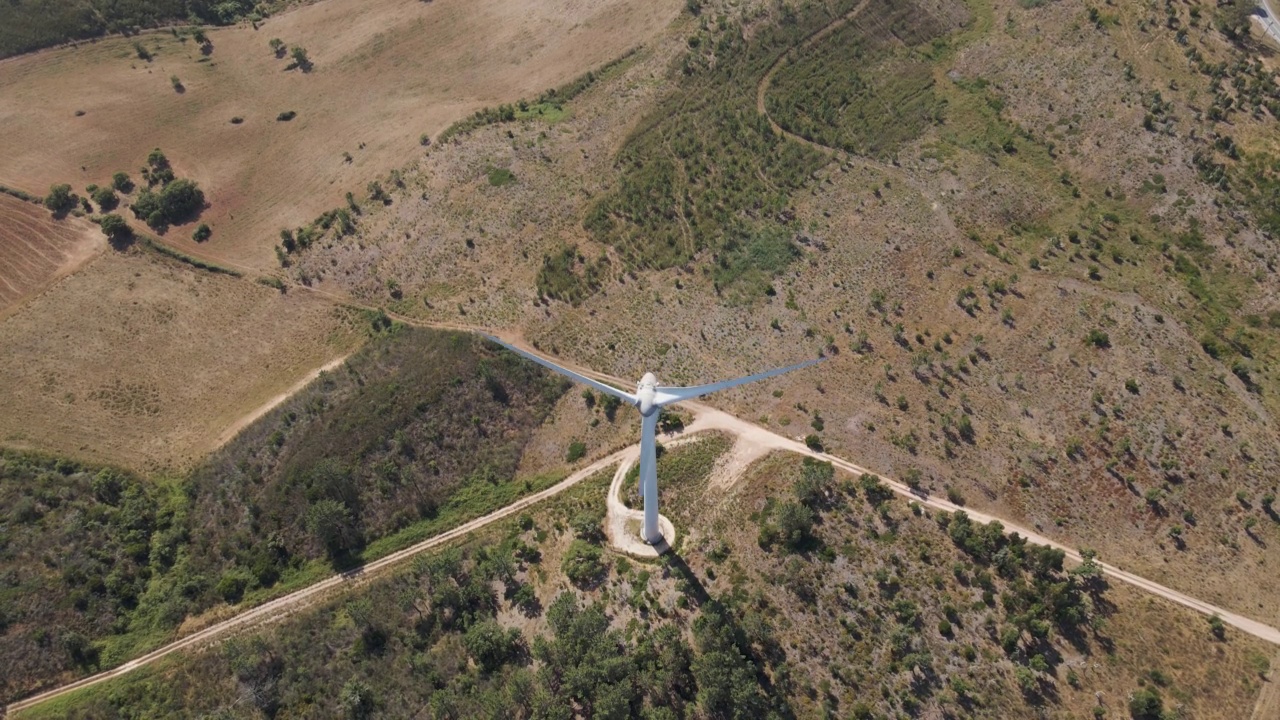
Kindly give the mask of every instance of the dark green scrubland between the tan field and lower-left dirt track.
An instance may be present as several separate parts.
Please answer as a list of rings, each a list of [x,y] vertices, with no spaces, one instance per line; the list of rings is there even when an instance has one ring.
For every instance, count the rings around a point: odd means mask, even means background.
[[[475,336],[381,324],[186,478],[0,456],[0,696],[108,667],[541,489],[564,384]]]

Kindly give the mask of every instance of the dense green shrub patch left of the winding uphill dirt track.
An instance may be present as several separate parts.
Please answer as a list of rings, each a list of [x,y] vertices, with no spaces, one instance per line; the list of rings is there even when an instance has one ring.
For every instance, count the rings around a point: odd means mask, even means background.
[[[669,268],[732,254],[756,233],[794,232],[790,196],[827,158],[773,132],[755,90],[777,58],[854,5],[787,6],[750,40],[736,19],[700,17],[671,94],[627,138],[614,187],[588,211],[593,237],[630,266]]]

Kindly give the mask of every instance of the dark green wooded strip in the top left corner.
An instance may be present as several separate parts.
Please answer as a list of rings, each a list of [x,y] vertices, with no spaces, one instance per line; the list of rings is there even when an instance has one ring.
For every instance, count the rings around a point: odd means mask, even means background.
[[[232,24],[268,14],[252,0],[18,0],[0,5],[0,58],[172,23]]]

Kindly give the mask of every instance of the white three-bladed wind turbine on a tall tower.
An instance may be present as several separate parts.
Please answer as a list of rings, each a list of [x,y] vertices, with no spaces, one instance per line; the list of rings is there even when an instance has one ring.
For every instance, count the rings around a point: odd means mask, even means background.
[[[534,355],[532,352],[521,350],[493,336],[484,337],[506,347],[516,355],[527,357],[534,363],[552,369],[572,380],[594,387],[605,395],[612,395],[613,397],[617,397],[627,405],[632,405],[640,410],[640,492],[644,496],[644,527],[641,528],[640,537],[649,544],[662,542],[662,530],[658,528],[658,415],[662,413],[662,409],[673,402],[694,400],[719,389],[728,389],[740,384],[754,383],[755,380],[781,375],[782,373],[790,373],[791,370],[799,370],[800,368],[808,368],[809,365],[815,365],[823,360],[819,357],[817,360],[787,365],[786,368],[778,368],[776,370],[746,375],[745,378],[692,387],[659,386],[658,378],[654,377],[653,373],[645,373],[644,377],[640,378],[640,382],[636,383],[636,392],[632,395],[599,380],[593,380],[591,378],[575,373],[568,368],[562,368],[540,355]]]

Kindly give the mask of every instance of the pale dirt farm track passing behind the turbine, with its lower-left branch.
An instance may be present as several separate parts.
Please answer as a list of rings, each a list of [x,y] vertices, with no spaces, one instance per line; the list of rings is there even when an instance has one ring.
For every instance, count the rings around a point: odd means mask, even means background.
[[[329,292],[320,291],[320,290],[312,290],[312,288],[306,288],[306,290],[308,292],[315,292],[315,293],[321,295],[324,297],[333,299],[337,302],[340,302],[340,304],[344,304],[344,305],[348,305],[348,306],[364,307],[364,309],[374,310],[374,307],[361,306],[358,304],[353,304],[349,300],[342,299],[342,297],[339,297],[339,296],[337,296],[334,293],[329,293]],[[458,324],[458,323],[434,323],[434,322],[417,320],[417,319],[399,316],[399,315],[393,315],[393,314],[389,314],[389,315],[393,316],[393,318],[396,318],[399,322],[403,322],[403,323],[411,324],[411,325],[416,325],[416,327],[434,328],[434,329],[466,331],[466,332],[481,332],[481,333],[488,333],[488,334],[499,334],[499,333],[493,333],[493,331],[489,331],[486,328],[479,328],[479,327],[472,327],[472,325],[463,325],[463,324]],[[511,333],[500,333],[500,334],[503,334],[504,336],[503,340],[507,340],[508,342],[516,342],[516,343],[524,345],[518,338],[513,337]],[[627,387],[630,384],[628,382],[626,382],[622,378],[617,378],[617,377],[608,375],[608,374],[604,374],[604,373],[593,372],[593,370],[589,370],[589,369],[585,369],[585,368],[575,368],[572,364],[568,364],[568,363],[563,363],[563,364],[567,365],[567,366],[570,366],[570,368],[573,368],[576,370],[580,370],[584,374],[588,374],[590,377],[600,379],[600,380],[605,380],[605,382],[611,382],[611,383],[617,383],[617,384],[621,384],[622,387]],[[809,457],[814,457],[814,459],[818,459],[818,460],[823,460],[823,461],[831,462],[832,465],[836,465],[840,469],[846,470],[849,473],[854,473],[854,474],[859,474],[859,475],[860,474],[876,474],[895,493],[897,493],[897,495],[900,495],[900,496],[902,496],[905,498],[913,500],[915,502],[919,502],[920,505],[923,505],[925,507],[931,507],[931,509],[940,510],[940,511],[943,511],[943,512],[965,511],[965,512],[969,514],[970,518],[973,518],[974,520],[977,520],[979,523],[998,521],[998,523],[1001,523],[1001,525],[1004,527],[1004,529],[1005,529],[1006,533],[1018,533],[1018,534],[1023,536],[1024,538],[1027,538],[1029,542],[1033,542],[1033,543],[1037,543],[1037,544],[1044,544],[1044,546],[1050,546],[1050,547],[1061,550],[1064,552],[1064,555],[1070,561],[1073,561],[1073,562],[1082,562],[1083,561],[1080,553],[1076,550],[1066,547],[1066,546],[1064,546],[1061,543],[1057,543],[1057,542],[1055,542],[1052,539],[1048,539],[1048,538],[1041,536],[1039,533],[1037,533],[1034,530],[1030,530],[1030,529],[1027,529],[1027,528],[1023,528],[1021,525],[1018,525],[1015,523],[1010,523],[1010,521],[1004,520],[1001,518],[996,518],[993,515],[988,515],[988,514],[984,514],[984,512],[980,512],[980,511],[969,510],[969,509],[957,506],[957,505],[955,505],[952,502],[948,502],[948,501],[942,500],[942,498],[933,497],[933,496],[931,496],[928,493],[913,491],[911,488],[909,488],[904,483],[900,483],[897,480],[886,478],[884,475],[881,475],[878,473],[873,473],[872,470],[869,470],[867,468],[863,468],[863,466],[860,466],[858,464],[854,464],[854,462],[851,462],[849,460],[845,460],[842,457],[837,457],[835,455],[829,455],[829,454],[826,454],[826,452],[814,451],[814,450],[809,448],[808,446],[805,446],[800,441],[780,436],[780,434],[777,434],[777,433],[774,433],[772,430],[768,430],[765,428],[762,428],[759,425],[755,425],[753,423],[749,423],[746,420],[742,420],[740,418],[730,415],[728,413],[724,413],[724,411],[717,410],[714,407],[703,405],[700,402],[686,402],[686,404],[682,404],[682,405],[686,409],[691,410],[694,413],[694,415],[695,415],[694,421],[690,423],[690,425],[686,428],[686,430],[684,433],[686,437],[687,436],[692,436],[692,434],[699,433],[699,432],[721,430],[721,432],[726,432],[726,433],[733,434],[737,438],[736,442],[735,442],[735,445],[733,445],[733,448],[731,450],[731,454],[745,454],[746,456],[759,457],[759,456],[763,456],[763,455],[765,455],[768,452],[772,452],[772,451],[795,452],[795,454],[799,454],[799,455],[805,455],[805,456],[809,456]],[[513,503],[511,503],[511,505],[508,505],[508,506],[506,506],[506,507],[503,507],[500,510],[490,512],[489,515],[485,515],[485,516],[477,518],[475,520],[471,520],[468,523],[465,523],[462,525],[458,525],[457,528],[454,528],[452,530],[447,530],[447,532],[444,532],[444,533],[442,533],[439,536],[435,536],[433,538],[422,541],[421,543],[417,543],[417,544],[411,546],[408,548],[404,548],[404,550],[401,550],[401,551],[394,552],[392,555],[388,555],[388,556],[385,556],[385,557],[383,557],[380,560],[372,561],[372,562],[370,562],[367,565],[364,565],[361,568],[356,568],[353,570],[348,570],[346,573],[333,575],[330,578],[324,579],[324,580],[320,580],[320,582],[317,582],[317,583],[315,583],[315,584],[312,584],[312,585],[310,585],[307,588],[296,591],[293,593],[289,593],[289,594],[285,594],[283,597],[275,598],[275,600],[269,601],[269,602],[266,602],[264,605],[260,605],[257,607],[246,610],[244,612],[242,612],[239,615],[236,615],[234,618],[230,618],[230,619],[224,620],[221,623],[218,623],[215,625],[210,625],[209,628],[205,628],[205,629],[202,629],[200,632],[196,632],[196,633],[193,633],[191,635],[187,635],[187,637],[184,637],[182,639],[178,639],[178,641],[175,641],[175,642],[173,642],[173,643],[170,643],[168,646],[157,648],[157,650],[155,650],[155,651],[152,651],[152,652],[150,652],[147,655],[143,655],[143,656],[141,656],[138,659],[131,660],[131,661],[128,661],[128,662],[125,662],[125,664],[123,664],[123,665],[120,665],[118,667],[114,667],[111,670],[106,670],[106,671],[100,673],[97,675],[91,675],[88,678],[83,678],[83,679],[77,680],[74,683],[70,683],[68,685],[63,685],[60,688],[55,688],[55,689],[40,693],[40,694],[32,696],[29,698],[14,702],[14,703],[9,705],[8,708],[5,708],[5,710],[6,710],[6,712],[18,712],[18,711],[33,707],[36,705],[40,705],[42,702],[46,702],[46,701],[50,701],[50,700],[65,696],[65,694],[68,694],[70,692],[74,692],[77,689],[87,688],[87,687],[91,687],[91,685],[96,685],[99,683],[110,680],[113,678],[119,678],[119,676],[122,676],[122,675],[124,675],[124,674],[127,674],[127,673],[129,673],[132,670],[136,670],[138,667],[143,667],[146,665],[151,665],[151,664],[154,664],[154,662],[156,662],[156,661],[159,661],[159,660],[161,660],[161,659],[164,659],[166,656],[169,656],[169,655],[172,655],[174,652],[183,651],[183,650],[198,650],[201,647],[207,647],[210,644],[221,642],[227,637],[233,635],[236,633],[242,633],[242,632],[250,630],[252,628],[261,626],[261,625],[265,625],[265,624],[269,624],[269,623],[284,619],[284,618],[287,618],[287,616],[289,616],[289,615],[292,615],[294,612],[298,612],[298,611],[301,611],[301,610],[303,610],[303,609],[306,609],[306,607],[308,607],[308,606],[311,606],[311,605],[314,605],[314,603],[324,600],[325,597],[329,597],[332,593],[340,592],[343,589],[349,589],[352,587],[358,585],[360,583],[362,583],[365,580],[369,580],[370,578],[374,578],[374,577],[376,577],[379,574],[383,574],[383,573],[390,570],[393,566],[399,565],[399,564],[410,560],[411,557],[413,557],[413,556],[416,556],[416,555],[419,555],[421,552],[436,548],[436,547],[439,547],[439,546],[442,546],[444,543],[448,543],[448,542],[452,542],[454,539],[458,539],[458,538],[461,538],[461,537],[463,537],[463,536],[466,536],[466,534],[468,534],[468,533],[471,533],[474,530],[477,530],[480,528],[490,525],[490,524],[493,524],[493,523],[495,523],[495,521],[498,521],[498,520],[500,520],[503,518],[508,518],[508,516],[511,516],[515,512],[518,512],[518,511],[521,511],[521,510],[524,510],[526,507],[530,507],[531,505],[535,505],[535,503],[538,503],[538,502],[540,502],[543,500],[553,497],[553,496],[558,495],[559,492],[563,492],[564,489],[568,489],[570,487],[573,487],[579,482],[589,478],[590,475],[595,474],[596,471],[603,470],[604,468],[608,468],[608,466],[618,464],[618,462],[623,462],[627,457],[630,457],[636,451],[637,451],[636,446],[628,446],[626,448],[618,450],[618,451],[616,451],[616,452],[613,452],[611,455],[607,455],[607,456],[604,456],[604,457],[602,457],[599,460],[595,460],[594,462],[591,462],[586,468],[582,468],[581,470],[577,470],[576,473],[571,474],[568,478],[566,478],[564,480],[557,483],[556,486],[553,486],[550,488],[547,488],[544,491],[540,491],[538,493],[530,495],[527,497],[524,497],[524,498],[521,498],[521,500],[518,500],[518,501],[516,501],[516,502],[513,502]],[[730,460],[730,464],[733,465],[732,459]],[[737,466],[742,466],[745,469],[746,464],[749,464],[749,462],[739,462],[736,465]],[[719,484],[722,484],[722,486],[731,484],[735,480],[736,480],[736,478],[724,478],[724,479],[722,479],[722,482]],[[1224,610],[1221,607],[1217,607],[1217,606],[1213,606],[1211,603],[1203,602],[1203,601],[1201,601],[1198,598],[1194,598],[1194,597],[1188,596],[1185,593],[1178,592],[1178,591],[1175,591],[1172,588],[1167,588],[1165,585],[1161,585],[1158,583],[1147,580],[1146,578],[1142,578],[1142,577],[1135,575],[1133,573],[1128,573],[1128,571],[1125,571],[1125,570],[1123,570],[1120,568],[1116,568],[1114,565],[1108,565],[1106,562],[1100,562],[1100,565],[1102,568],[1102,573],[1105,574],[1105,577],[1108,578],[1108,579],[1111,579],[1111,580],[1117,580],[1117,582],[1126,583],[1126,584],[1133,585],[1133,587],[1135,587],[1135,588],[1138,588],[1138,589],[1140,589],[1143,592],[1147,592],[1149,594],[1155,594],[1157,597],[1162,597],[1162,598],[1165,598],[1165,600],[1167,600],[1170,602],[1174,602],[1176,605],[1181,605],[1183,607],[1188,607],[1188,609],[1194,610],[1197,612],[1201,612],[1203,615],[1216,615],[1216,616],[1221,618],[1221,620],[1224,623],[1226,623],[1228,625],[1231,625],[1233,628],[1236,628],[1238,630],[1240,630],[1243,633],[1247,633],[1249,635],[1253,635],[1253,637],[1256,637],[1258,639],[1262,639],[1262,641],[1266,641],[1266,642],[1270,642],[1270,643],[1280,644],[1280,629],[1276,629],[1276,628],[1274,628],[1271,625],[1266,625],[1266,624],[1260,623],[1257,620],[1252,620],[1249,618],[1244,618],[1242,615],[1236,615],[1234,612],[1226,611],[1226,610]],[[1267,696],[1267,697],[1270,697],[1270,696]],[[1270,702],[1270,701],[1265,701],[1263,698],[1260,698],[1260,702],[1265,703],[1265,702]]]

